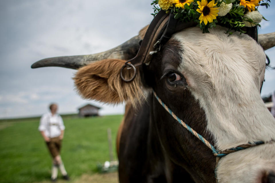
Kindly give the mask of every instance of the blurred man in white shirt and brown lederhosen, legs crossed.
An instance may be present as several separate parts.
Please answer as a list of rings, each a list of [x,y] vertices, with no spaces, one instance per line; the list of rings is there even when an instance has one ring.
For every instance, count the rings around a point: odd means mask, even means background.
[[[68,174],[65,170],[64,164],[61,160],[60,149],[61,142],[64,136],[65,126],[59,114],[57,114],[57,104],[50,104],[50,112],[44,114],[40,119],[38,130],[44,138],[50,154],[53,158],[52,176],[53,182],[57,179],[58,168],[65,180],[69,180]]]

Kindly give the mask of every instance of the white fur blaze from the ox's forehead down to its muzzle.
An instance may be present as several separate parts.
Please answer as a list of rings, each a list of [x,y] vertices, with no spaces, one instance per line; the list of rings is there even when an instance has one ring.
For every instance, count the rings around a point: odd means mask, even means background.
[[[222,27],[209,31],[193,27],[174,39],[184,50],[178,70],[205,110],[215,146],[225,150],[275,140],[275,120],[260,96],[266,59],[262,47],[245,34],[228,36]],[[219,183],[257,182],[266,171],[275,172],[275,143],[221,158],[217,176]]]

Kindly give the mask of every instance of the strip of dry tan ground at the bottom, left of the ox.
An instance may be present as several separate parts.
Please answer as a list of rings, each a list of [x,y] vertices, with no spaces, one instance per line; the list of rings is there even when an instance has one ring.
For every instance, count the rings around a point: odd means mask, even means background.
[[[106,173],[106,174],[83,174],[82,176],[71,180],[71,181],[65,181],[65,180],[57,180],[57,183],[118,183],[118,174],[117,172],[113,173]],[[40,183],[51,183],[51,181],[43,181]]]

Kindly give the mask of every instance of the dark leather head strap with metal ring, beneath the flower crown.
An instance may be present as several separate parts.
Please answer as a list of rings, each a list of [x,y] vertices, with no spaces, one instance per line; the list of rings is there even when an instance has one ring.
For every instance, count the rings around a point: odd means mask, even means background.
[[[135,67],[138,67],[144,63],[149,63],[153,58],[153,54],[160,51],[161,46],[163,46],[174,33],[188,27],[195,27],[196,25],[197,23],[195,22],[178,21],[177,19],[174,19],[173,13],[167,14],[165,11],[160,10],[150,23],[137,55],[126,61],[125,65],[121,68],[121,79],[125,82],[133,81],[137,73]],[[243,30],[246,31],[246,34],[250,35],[258,42],[257,26],[243,27]],[[125,79],[123,77],[123,69],[125,67],[127,67],[127,69],[133,68],[134,73],[130,79]]]

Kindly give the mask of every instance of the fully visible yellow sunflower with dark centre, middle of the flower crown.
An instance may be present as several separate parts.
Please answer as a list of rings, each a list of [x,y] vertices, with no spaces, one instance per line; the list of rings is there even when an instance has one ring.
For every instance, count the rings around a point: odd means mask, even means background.
[[[200,23],[202,23],[202,21],[204,22],[204,24],[206,25],[208,22],[213,22],[213,19],[216,19],[218,16],[218,8],[214,8],[214,6],[217,5],[214,4],[215,1],[212,0],[209,3],[207,2],[207,0],[201,0],[197,1],[199,8],[197,9],[197,12],[201,13],[201,16],[199,17]]]

